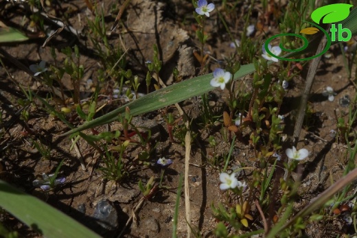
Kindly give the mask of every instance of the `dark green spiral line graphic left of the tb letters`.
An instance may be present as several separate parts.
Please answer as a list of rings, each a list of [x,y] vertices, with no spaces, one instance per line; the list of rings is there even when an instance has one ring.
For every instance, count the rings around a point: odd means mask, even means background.
[[[288,52],[298,52],[298,51],[301,51],[303,49],[306,49],[306,47],[308,47],[308,44],[306,44],[306,42],[308,41],[308,39],[306,39],[305,37],[301,36],[301,35],[298,35],[298,34],[293,34],[293,33],[282,33],[282,34],[278,34],[278,35],[275,35],[275,36],[271,36],[270,38],[268,38],[268,40],[266,40],[265,44],[264,44],[264,49],[266,50],[266,53],[268,53],[270,56],[273,56],[279,60],[286,60],[286,61],[306,61],[306,60],[312,60],[313,58],[317,58],[319,56],[322,56],[324,53],[326,53],[326,51],[328,49],[330,49],[330,46],[331,46],[331,43],[332,43],[332,40],[331,40],[331,37],[330,35],[325,31],[325,29],[323,29],[322,27],[320,27],[319,25],[315,24],[315,23],[311,23],[310,21],[303,21],[305,23],[310,23],[311,25],[314,25],[315,27],[319,28],[323,34],[325,34],[326,38],[327,38],[327,43],[326,43],[326,46],[325,48],[323,49],[323,51],[319,54],[317,54],[316,56],[311,56],[311,57],[308,57],[308,58],[301,58],[301,59],[288,59],[288,58],[282,58],[280,56],[276,56],[274,53],[272,53],[269,48],[268,48],[268,45],[270,43],[270,41],[272,41],[274,38],[278,37],[278,36],[296,36],[298,38],[303,38],[303,41],[304,41],[304,44],[302,47],[300,47],[299,49],[288,49],[286,50],[286,48],[282,47],[282,44],[280,43],[279,47],[281,48],[281,50],[284,50],[284,51],[288,51]]]

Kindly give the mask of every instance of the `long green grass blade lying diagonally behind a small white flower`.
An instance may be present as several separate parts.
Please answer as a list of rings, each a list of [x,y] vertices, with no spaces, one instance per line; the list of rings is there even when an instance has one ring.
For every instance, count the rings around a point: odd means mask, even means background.
[[[235,73],[233,78],[234,80],[238,80],[239,78],[253,73],[254,71],[255,68],[253,64],[245,64],[240,67],[240,70]],[[183,100],[194,96],[202,95],[203,93],[207,93],[215,89],[215,87],[209,84],[212,78],[212,73],[209,73],[192,78],[191,80],[185,80],[178,84],[170,85],[166,88],[161,88],[158,91],[149,93],[148,95],[140,97],[139,99],[136,99],[129,104],[117,108],[112,112],[108,112],[108,114],[103,115],[102,117],[98,117],[93,121],[84,123],[84,125],[70,130],[69,132],[62,134],[62,136],[115,121],[119,113],[125,112],[126,107],[130,108],[130,115],[137,116],[146,112],[151,112],[163,108],[165,106],[170,106],[172,104],[182,102]]]

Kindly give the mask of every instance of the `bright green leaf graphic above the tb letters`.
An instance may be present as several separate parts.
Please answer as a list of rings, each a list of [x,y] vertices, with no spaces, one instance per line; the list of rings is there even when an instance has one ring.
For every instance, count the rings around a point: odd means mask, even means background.
[[[317,24],[320,23],[321,19],[323,19],[322,23],[336,23],[345,20],[349,15],[349,8],[353,6],[354,5],[346,3],[325,5],[314,10],[311,14],[311,18],[312,21]]]

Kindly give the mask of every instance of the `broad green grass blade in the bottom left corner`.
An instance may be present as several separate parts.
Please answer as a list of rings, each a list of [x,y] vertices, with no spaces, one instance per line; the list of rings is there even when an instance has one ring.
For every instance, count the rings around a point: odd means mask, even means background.
[[[3,180],[0,180],[0,206],[44,237],[100,237],[65,213]]]

